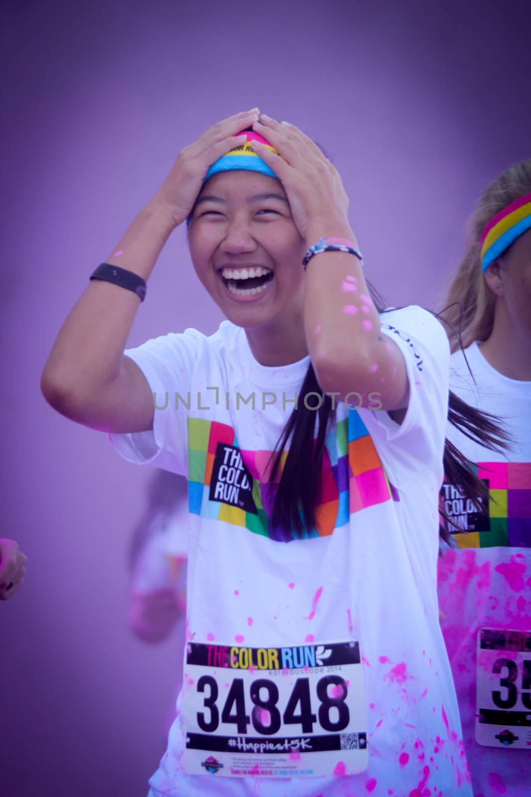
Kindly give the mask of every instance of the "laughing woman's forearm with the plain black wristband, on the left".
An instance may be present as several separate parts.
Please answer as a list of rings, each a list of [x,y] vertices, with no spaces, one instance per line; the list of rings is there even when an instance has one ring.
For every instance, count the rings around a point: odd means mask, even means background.
[[[173,229],[170,214],[150,202],[120,238],[107,263],[147,281]],[[88,396],[111,382],[119,373],[139,304],[139,296],[132,291],[100,280],[89,282],[49,355],[42,377],[45,395],[48,388]]]

